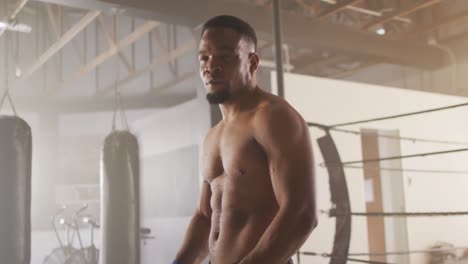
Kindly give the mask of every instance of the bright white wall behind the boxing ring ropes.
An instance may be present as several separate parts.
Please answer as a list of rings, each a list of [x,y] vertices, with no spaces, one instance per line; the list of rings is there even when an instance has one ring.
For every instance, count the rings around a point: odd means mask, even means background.
[[[276,86],[272,74],[272,85]],[[465,102],[465,98],[439,94],[328,80],[300,75],[285,75],[286,99],[307,121],[335,124],[398,113],[419,111]],[[426,115],[374,122],[346,127],[353,130],[375,128],[400,131],[401,136],[468,142],[468,109],[459,108]],[[316,139],[322,132],[311,129]],[[360,160],[359,137],[333,133],[343,161]],[[466,146],[465,146],[466,147]],[[463,148],[441,144],[401,142],[402,154],[432,152]],[[322,161],[314,145],[317,163]],[[403,168],[468,170],[466,152],[402,160]],[[346,170],[352,210],[364,211],[364,185],[361,170]],[[405,206],[408,211],[468,211],[466,203],[467,175],[421,174],[405,172]],[[317,168],[319,209],[329,209],[328,175]],[[385,186],[384,186],[385,187]],[[330,252],[334,234],[334,221],[320,217],[317,230],[302,250]],[[468,245],[466,217],[408,218],[410,250],[425,249],[436,241],[447,241],[457,246]],[[353,218],[350,252],[367,251],[365,219]],[[302,263],[326,263],[327,260],[302,257]],[[319,262],[321,261],[321,262]],[[411,263],[424,263],[424,256],[411,256]]]

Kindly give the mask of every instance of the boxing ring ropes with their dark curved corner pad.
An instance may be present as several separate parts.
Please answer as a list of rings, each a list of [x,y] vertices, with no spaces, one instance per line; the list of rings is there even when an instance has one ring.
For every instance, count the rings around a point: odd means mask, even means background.
[[[398,115],[384,116],[372,119],[365,119],[353,122],[339,123],[335,125],[324,125],[319,123],[308,122],[308,126],[317,127],[325,131],[326,135],[318,139],[320,151],[324,158],[324,162],[320,164],[321,167],[325,167],[329,173],[329,184],[330,184],[330,193],[332,200],[332,209],[329,210],[329,217],[336,218],[335,226],[335,238],[333,241],[333,250],[331,254],[324,253],[318,254],[315,252],[301,252],[297,253],[298,262],[300,263],[300,255],[308,256],[322,256],[330,258],[330,264],[345,264],[347,261],[350,262],[360,262],[360,263],[388,263],[388,262],[379,262],[379,261],[369,261],[356,258],[350,258],[349,256],[377,256],[377,255],[403,255],[403,254],[417,254],[417,253],[428,253],[428,252],[437,252],[437,250],[417,250],[417,251],[400,251],[400,252],[381,252],[381,253],[349,253],[349,244],[351,238],[351,217],[352,216],[365,216],[365,217],[453,217],[453,216],[466,216],[468,212],[459,211],[459,212],[352,212],[350,207],[348,189],[346,178],[344,175],[344,168],[355,168],[362,169],[362,166],[355,166],[354,164],[365,164],[365,163],[375,163],[380,161],[387,160],[401,160],[415,157],[427,157],[434,155],[444,155],[451,153],[466,152],[468,148],[459,148],[435,152],[426,152],[426,153],[417,153],[410,155],[400,155],[400,156],[391,156],[383,157],[378,159],[367,159],[367,160],[355,160],[355,161],[346,161],[342,162],[339,156],[339,153],[336,149],[333,138],[330,135],[330,131],[337,131],[342,133],[350,133],[355,135],[361,135],[363,132],[357,132],[353,130],[339,129],[337,127],[349,126],[356,124],[363,124],[369,122],[383,121],[395,118],[402,118],[407,116],[420,115],[425,113],[431,113],[436,111],[443,111],[448,109],[454,109],[459,107],[468,106],[468,103],[449,105],[445,107],[432,108],[422,111],[409,112]],[[465,142],[455,142],[448,140],[430,140],[422,139],[416,137],[399,137],[399,136],[386,136],[378,135],[378,137],[386,137],[391,139],[399,139],[412,142],[425,142],[425,143],[438,143],[438,144],[447,144],[447,145],[468,145]],[[395,169],[395,168],[376,168],[379,170],[393,170],[393,171],[411,171],[411,172],[421,172],[421,173],[451,173],[451,174],[467,174],[468,171],[455,171],[455,170],[420,170],[420,169]],[[323,212],[322,212],[323,213]],[[465,248],[463,248],[465,249]],[[441,250],[438,250],[441,251]]]

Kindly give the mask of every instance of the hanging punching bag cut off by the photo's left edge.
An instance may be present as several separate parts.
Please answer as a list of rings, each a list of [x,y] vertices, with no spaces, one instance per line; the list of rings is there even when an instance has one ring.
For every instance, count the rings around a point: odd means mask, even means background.
[[[0,262],[31,259],[31,128],[0,115]]]

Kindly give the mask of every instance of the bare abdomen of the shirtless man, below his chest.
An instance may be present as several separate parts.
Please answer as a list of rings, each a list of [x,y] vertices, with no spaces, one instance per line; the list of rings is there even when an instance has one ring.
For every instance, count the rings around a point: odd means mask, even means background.
[[[240,188],[223,187],[229,186],[212,185],[209,238],[212,264],[233,264],[241,261],[255,248],[278,210],[277,204],[272,204],[273,197],[265,197],[265,193],[239,194],[229,189]]]

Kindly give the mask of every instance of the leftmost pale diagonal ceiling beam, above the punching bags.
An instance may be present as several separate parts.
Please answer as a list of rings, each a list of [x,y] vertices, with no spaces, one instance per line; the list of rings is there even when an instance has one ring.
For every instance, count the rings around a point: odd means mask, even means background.
[[[93,20],[100,14],[100,11],[89,11],[84,15],[80,21],[73,25],[62,37],[53,43],[47,51],[39,56],[36,62],[32,66],[25,70],[24,74],[21,75],[22,79],[27,79],[34,72],[36,72],[42,65],[44,65],[50,58],[52,58],[57,52],[59,52],[66,44],[68,44],[73,38],[78,35],[84,28],[86,28]]]

